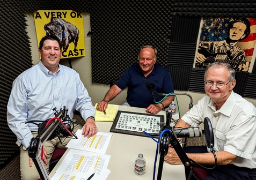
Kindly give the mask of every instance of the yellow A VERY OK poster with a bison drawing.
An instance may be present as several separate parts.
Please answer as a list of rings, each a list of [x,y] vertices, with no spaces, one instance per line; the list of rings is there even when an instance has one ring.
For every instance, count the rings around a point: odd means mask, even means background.
[[[45,35],[55,35],[62,45],[62,58],[85,56],[83,13],[71,10],[34,12],[38,47]]]

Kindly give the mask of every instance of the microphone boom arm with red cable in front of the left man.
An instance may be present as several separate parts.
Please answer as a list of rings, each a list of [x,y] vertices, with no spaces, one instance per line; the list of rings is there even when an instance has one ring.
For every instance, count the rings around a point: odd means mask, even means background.
[[[68,111],[65,106],[63,107],[63,109],[60,109],[60,112],[57,112],[56,108],[54,108],[53,110],[55,110],[55,117],[60,119],[63,119],[67,115]],[[58,121],[57,119],[55,121],[49,122],[49,124],[38,134],[38,136],[30,140],[30,145],[28,146],[28,155],[32,158],[35,167],[38,170],[41,179],[43,180],[49,180],[49,177],[46,172],[45,166],[40,159],[40,152],[42,150],[43,144],[45,143],[45,141],[47,141],[47,139],[54,132],[58,125],[60,125],[60,121]]]

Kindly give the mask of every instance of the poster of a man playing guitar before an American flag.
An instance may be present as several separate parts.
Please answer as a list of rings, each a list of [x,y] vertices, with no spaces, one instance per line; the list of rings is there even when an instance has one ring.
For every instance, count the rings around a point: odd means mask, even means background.
[[[251,72],[255,61],[255,18],[202,18],[194,68],[213,62],[229,63]]]

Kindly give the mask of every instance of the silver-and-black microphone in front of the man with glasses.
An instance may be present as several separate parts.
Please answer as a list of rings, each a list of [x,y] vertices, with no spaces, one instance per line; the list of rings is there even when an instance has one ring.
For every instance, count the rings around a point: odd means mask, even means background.
[[[173,129],[173,133],[177,136],[177,138],[195,138],[202,136],[202,130],[200,127]],[[159,136],[160,133],[150,133],[150,135]]]

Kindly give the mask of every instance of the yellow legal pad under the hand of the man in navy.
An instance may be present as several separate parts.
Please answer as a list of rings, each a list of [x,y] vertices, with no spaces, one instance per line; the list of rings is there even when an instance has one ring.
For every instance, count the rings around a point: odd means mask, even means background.
[[[95,104],[95,108],[97,107],[97,104]],[[113,122],[116,116],[116,112],[118,111],[118,105],[116,104],[108,104],[106,109],[106,114],[104,112],[99,111],[96,109],[95,111],[95,121],[108,121]]]

